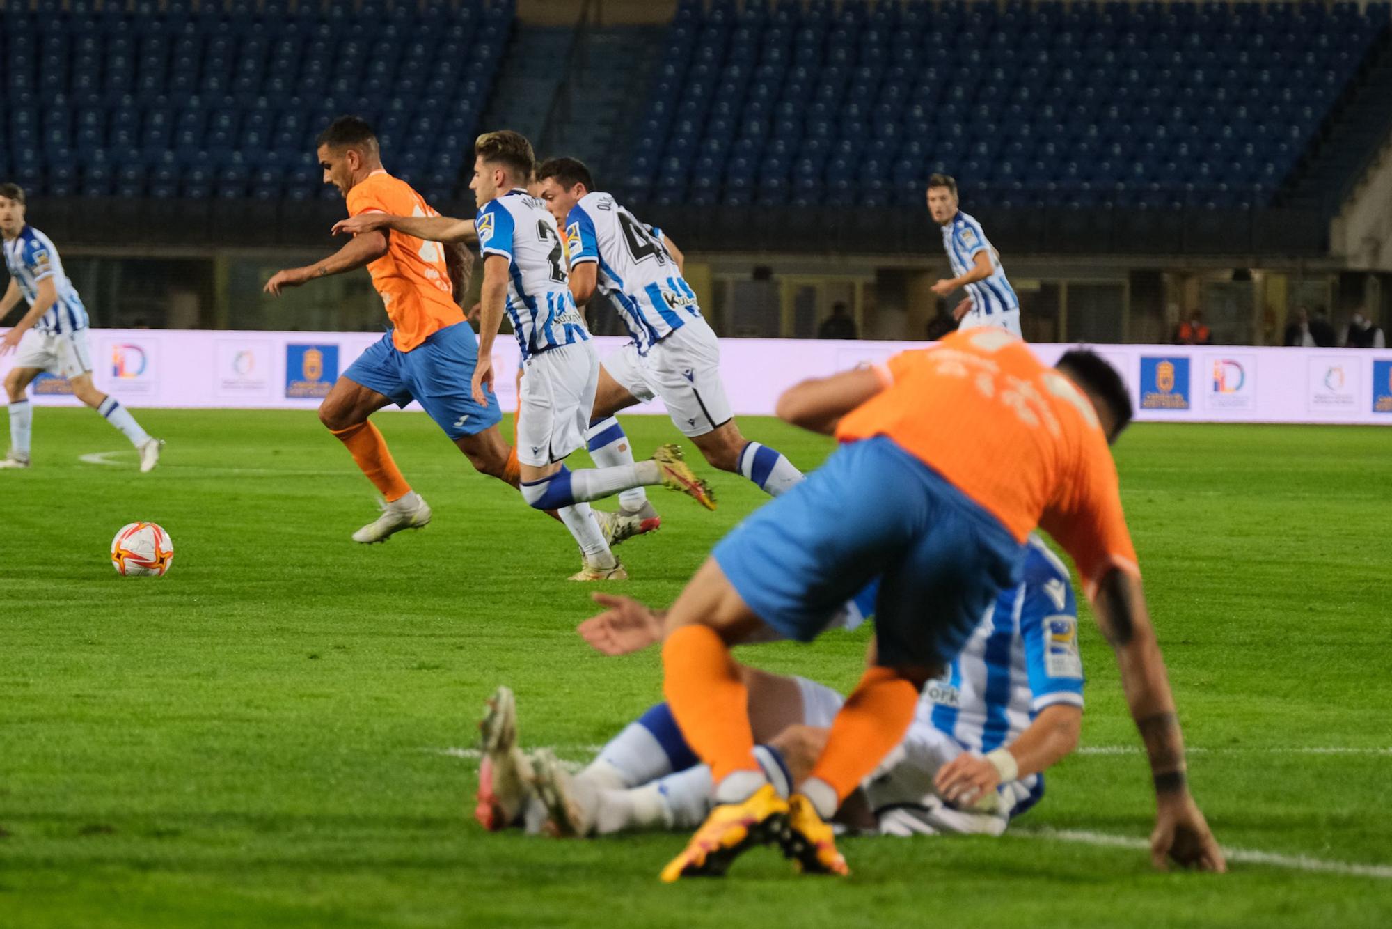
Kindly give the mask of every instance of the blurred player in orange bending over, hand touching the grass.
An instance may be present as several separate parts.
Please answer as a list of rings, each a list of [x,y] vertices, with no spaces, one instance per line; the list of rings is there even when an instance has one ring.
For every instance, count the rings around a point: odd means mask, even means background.
[[[664,880],[721,873],[777,840],[805,871],[845,873],[824,823],[908,730],[922,685],[960,652],[1044,528],[1072,556],[1116,652],[1158,805],[1151,851],[1222,869],[1189,795],[1183,738],[1141,595],[1108,442],[1130,397],[1100,357],[1047,368],[1004,329],[954,333],[888,365],[809,380],[780,415],[841,447],[715,546],[664,617],[664,694],[713,769],[715,809]],[[770,565],[777,565],[771,570]],[[810,641],[873,578],[876,653],[789,801],[753,755],[729,649]]]

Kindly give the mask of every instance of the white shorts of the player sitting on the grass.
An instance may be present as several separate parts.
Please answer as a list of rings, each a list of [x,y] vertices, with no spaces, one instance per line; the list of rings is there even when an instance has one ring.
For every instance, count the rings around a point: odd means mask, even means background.
[[[965,749],[947,733],[915,720],[909,734],[860,786],[887,836],[974,833],[999,836],[1011,811],[1030,797],[1037,776],[1002,786],[988,809],[958,809],[933,788],[938,769]]]

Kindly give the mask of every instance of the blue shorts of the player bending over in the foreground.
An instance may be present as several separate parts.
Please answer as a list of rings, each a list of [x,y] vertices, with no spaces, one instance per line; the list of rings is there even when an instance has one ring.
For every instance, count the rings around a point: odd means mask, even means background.
[[[1019,584],[1025,546],[990,513],[884,436],[838,448],[714,550],[745,603],[810,642],[867,582],[880,664],[944,667]]]

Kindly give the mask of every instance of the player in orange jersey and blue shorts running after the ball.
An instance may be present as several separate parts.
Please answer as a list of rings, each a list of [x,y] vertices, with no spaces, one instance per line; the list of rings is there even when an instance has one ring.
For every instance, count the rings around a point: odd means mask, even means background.
[[[324,184],[338,188],[349,214],[436,214],[409,184],[387,174],[376,132],[358,117],[334,120],[319,135],[317,157]],[[503,414],[497,398],[491,391],[476,397],[469,389],[477,341],[454,301],[447,256],[438,244],[406,234],[363,233],[323,260],[277,272],[266,292],[280,295],[284,287],[363,265],[391,329],[338,377],[319,405],[319,421],[347,446],[386,500],[381,515],[352,535],[354,542],[372,543],[401,529],[418,529],[432,515],[367,419],[387,404],[419,401],[480,474],[516,485],[518,471],[498,433]]]

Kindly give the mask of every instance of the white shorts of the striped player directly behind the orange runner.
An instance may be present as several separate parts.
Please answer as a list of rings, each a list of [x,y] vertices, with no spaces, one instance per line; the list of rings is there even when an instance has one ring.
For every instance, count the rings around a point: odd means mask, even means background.
[[[599,383],[594,343],[561,345],[528,358],[518,396],[518,461],[544,468],[585,447]]]

